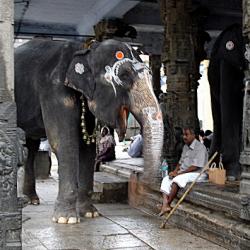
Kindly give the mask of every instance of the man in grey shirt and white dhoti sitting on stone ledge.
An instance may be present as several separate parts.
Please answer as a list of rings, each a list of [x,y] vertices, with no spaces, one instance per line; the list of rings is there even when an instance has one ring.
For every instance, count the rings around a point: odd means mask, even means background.
[[[206,147],[195,139],[193,128],[183,129],[183,146],[182,154],[176,169],[163,178],[161,183],[161,192],[163,193],[163,204],[161,206],[160,216],[171,210],[171,202],[176,197],[180,188],[184,188],[188,182],[192,182],[199,175],[202,168],[208,161]],[[202,174],[198,181],[207,178],[207,174]]]

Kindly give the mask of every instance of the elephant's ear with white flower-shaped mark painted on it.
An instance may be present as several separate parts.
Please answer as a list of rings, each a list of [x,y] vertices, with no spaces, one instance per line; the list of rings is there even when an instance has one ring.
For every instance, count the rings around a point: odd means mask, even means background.
[[[89,50],[77,51],[66,74],[65,85],[93,99],[95,81],[88,63]]]

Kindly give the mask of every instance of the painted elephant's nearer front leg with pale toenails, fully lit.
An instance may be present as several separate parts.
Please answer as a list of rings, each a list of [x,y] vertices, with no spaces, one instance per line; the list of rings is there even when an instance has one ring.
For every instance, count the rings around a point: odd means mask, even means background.
[[[79,167],[80,112],[72,93],[57,89],[49,101],[42,98],[46,134],[58,160],[59,191],[53,221],[62,224],[78,222],[76,202]]]

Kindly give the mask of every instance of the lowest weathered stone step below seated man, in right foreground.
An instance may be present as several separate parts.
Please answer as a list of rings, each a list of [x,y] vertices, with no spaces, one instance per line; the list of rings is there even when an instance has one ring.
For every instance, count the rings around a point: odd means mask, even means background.
[[[250,247],[250,226],[247,223],[187,202],[180,205],[169,223],[227,249]]]

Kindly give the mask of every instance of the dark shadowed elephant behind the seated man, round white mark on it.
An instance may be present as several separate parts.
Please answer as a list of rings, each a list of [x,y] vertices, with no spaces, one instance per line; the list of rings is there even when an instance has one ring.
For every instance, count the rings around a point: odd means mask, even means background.
[[[229,180],[240,174],[244,51],[241,25],[231,25],[214,43],[208,68],[214,126],[210,155],[221,154]]]

